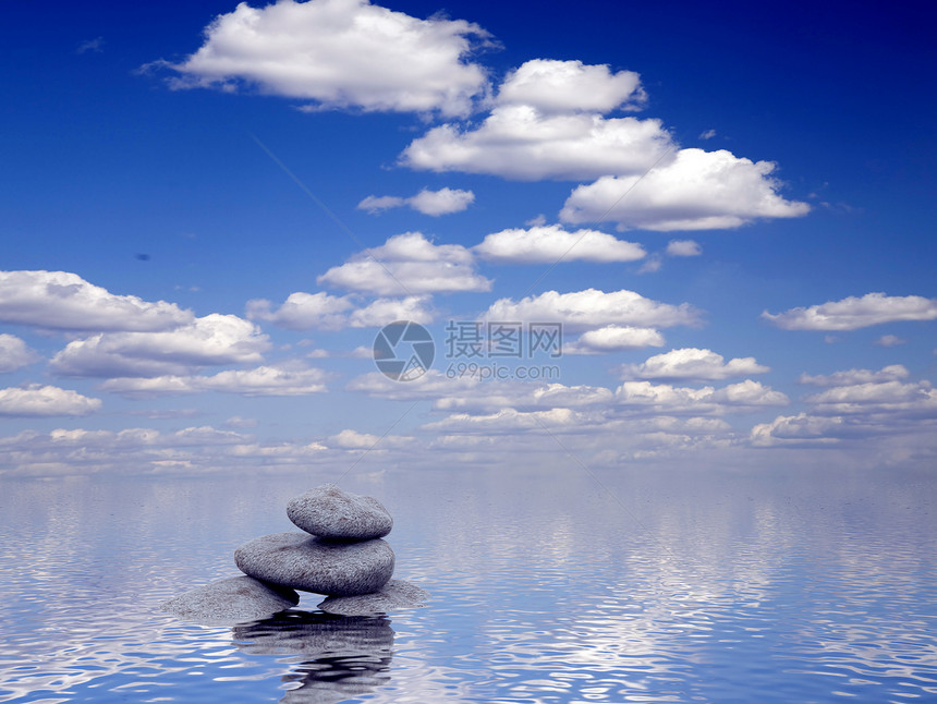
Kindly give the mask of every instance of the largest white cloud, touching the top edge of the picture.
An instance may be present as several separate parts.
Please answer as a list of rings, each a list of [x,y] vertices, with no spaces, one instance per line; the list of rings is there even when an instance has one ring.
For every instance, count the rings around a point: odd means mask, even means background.
[[[205,29],[178,71],[178,88],[242,84],[313,100],[309,109],[361,108],[467,114],[487,90],[485,70],[464,59],[488,34],[439,16],[418,20],[366,0],[242,2]]]

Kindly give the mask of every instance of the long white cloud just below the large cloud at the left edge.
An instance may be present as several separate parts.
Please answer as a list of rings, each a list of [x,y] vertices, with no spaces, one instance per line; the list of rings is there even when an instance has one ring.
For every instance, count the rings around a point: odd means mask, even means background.
[[[105,332],[75,340],[52,357],[50,366],[65,376],[151,377],[259,362],[269,347],[255,325],[216,313],[166,332]]]

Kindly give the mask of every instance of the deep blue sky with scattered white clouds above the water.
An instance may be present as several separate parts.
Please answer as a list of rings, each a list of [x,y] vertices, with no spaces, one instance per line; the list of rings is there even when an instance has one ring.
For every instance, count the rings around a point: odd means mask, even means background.
[[[896,8],[16,3],[0,472],[933,465],[935,57]],[[396,319],[419,379],[370,357]],[[504,361],[450,320],[563,353],[451,378]]]

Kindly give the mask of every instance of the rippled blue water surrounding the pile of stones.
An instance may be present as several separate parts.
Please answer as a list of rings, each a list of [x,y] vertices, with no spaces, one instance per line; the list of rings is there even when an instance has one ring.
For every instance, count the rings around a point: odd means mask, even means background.
[[[423,608],[158,610],[334,478],[0,483],[0,701],[937,702],[926,473],[352,476]]]

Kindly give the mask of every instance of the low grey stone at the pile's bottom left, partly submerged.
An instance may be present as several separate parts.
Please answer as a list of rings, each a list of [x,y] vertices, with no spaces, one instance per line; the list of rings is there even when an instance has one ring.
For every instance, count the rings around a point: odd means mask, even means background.
[[[293,590],[252,576],[232,576],[181,594],[160,608],[203,623],[240,623],[268,618],[299,603],[300,595]]]

